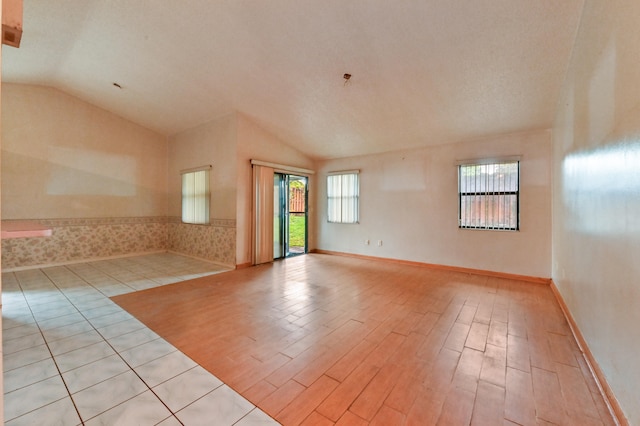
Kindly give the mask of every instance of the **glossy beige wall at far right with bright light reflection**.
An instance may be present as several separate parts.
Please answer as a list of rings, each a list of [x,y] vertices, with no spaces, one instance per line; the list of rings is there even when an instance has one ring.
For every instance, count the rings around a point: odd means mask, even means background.
[[[640,2],[588,0],[554,127],[553,279],[640,424]]]

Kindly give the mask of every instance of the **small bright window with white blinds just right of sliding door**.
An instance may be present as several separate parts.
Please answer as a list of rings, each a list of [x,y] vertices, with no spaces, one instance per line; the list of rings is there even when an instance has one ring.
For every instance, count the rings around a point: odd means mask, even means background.
[[[336,172],[327,176],[327,216],[332,223],[358,223],[360,187],[358,172]]]

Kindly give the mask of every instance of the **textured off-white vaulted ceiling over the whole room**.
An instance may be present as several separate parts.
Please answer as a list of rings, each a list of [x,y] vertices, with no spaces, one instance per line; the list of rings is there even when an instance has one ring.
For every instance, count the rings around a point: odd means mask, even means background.
[[[240,111],[316,158],[383,152],[550,127],[583,2],[24,0],[2,78],[165,135]]]

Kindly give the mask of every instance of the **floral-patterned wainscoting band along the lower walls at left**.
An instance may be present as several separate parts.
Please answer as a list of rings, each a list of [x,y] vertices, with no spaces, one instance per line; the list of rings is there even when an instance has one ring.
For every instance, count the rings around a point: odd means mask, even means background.
[[[235,265],[234,220],[210,225],[165,216],[34,221],[51,227],[52,236],[2,240],[4,270],[165,250]]]

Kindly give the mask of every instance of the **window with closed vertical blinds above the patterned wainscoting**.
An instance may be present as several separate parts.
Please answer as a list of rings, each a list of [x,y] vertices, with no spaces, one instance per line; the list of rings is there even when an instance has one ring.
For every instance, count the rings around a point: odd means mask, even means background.
[[[182,222],[209,223],[211,166],[182,172]]]

